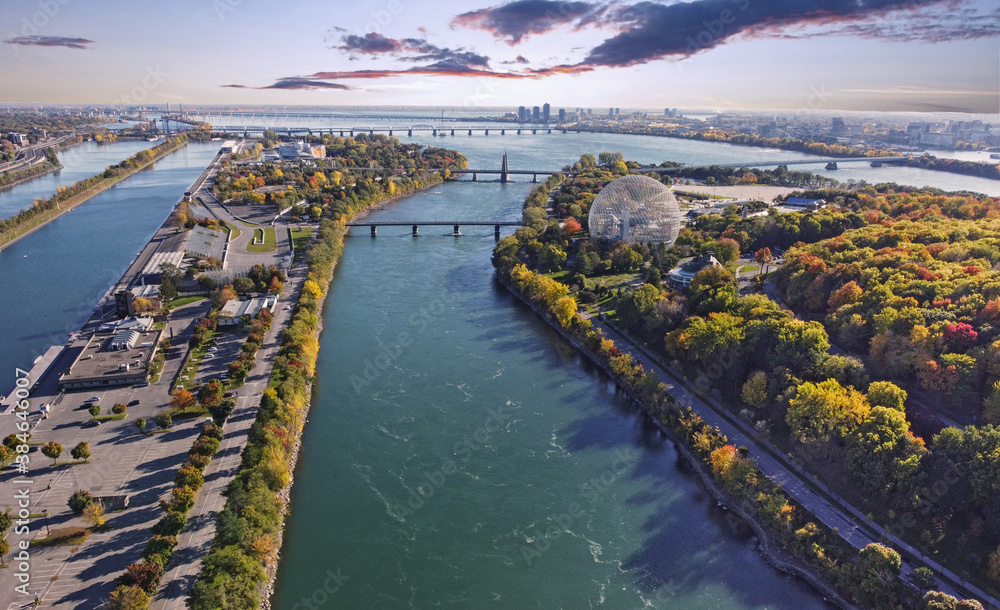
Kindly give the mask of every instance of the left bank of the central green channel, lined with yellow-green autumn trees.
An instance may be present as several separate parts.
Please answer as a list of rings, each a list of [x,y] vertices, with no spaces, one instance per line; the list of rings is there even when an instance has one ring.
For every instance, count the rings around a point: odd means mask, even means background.
[[[436,172],[427,179],[428,184],[371,202],[350,218],[361,218],[441,182]],[[293,472],[302,446],[303,427],[314,401],[322,309],[343,253],[346,220],[322,221],[306,255],[308,275],[281,339],[279,358],[283,358],[274,363],[268,388],[261,395],[239,473],[228,488],[229,500],[219,514],[219,522],[226,521],[227,527],[216,531],[212,550],[203,558],[188,599],[192,608],[215,608],[220,596],[240,599],[246,607],[271,607],[284,524],[290,510]],[[251,522],[244,517],[247,514],[259,518]],[[237,522],[239,527],[235,526]],[[240,534],[236,535],[238,530]],[[248,540],[252,541],[250,547],[245,544]],[[243,569],[238,574],[228,569],[232,557],[242,560]]]

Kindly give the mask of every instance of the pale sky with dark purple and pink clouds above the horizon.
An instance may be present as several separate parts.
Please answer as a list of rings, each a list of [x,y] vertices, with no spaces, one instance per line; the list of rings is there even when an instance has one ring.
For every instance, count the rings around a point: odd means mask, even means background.
[[[4,0],[0,102],[1000,112],[995,0]]]

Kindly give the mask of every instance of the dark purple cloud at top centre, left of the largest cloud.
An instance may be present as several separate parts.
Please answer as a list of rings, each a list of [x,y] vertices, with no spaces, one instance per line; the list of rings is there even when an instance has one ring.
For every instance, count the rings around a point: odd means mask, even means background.
[[[605,8],[589,2],[560,0],[516,0],[501,6],[462,13],[451,27],[485,30],[498,40],[514,46],[534,34],[545,34],[557,27],[576,29],[596,23]]]

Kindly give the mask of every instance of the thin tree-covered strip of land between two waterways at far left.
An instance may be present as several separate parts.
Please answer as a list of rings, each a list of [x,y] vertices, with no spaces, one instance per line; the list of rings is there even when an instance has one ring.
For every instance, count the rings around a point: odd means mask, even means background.
[[[180,150],[187,145],[187,143],[188,139],[186,137],[173,138],[165,142],[163,145],[142,151],[133,155],[129,159],[122,161],[122,163],[119,164],[119,167],[127,166],[127,169],[121,173],[107,176],[108,172],[113,171],[112,168],[108,168],[102,174],[92,176],[87,180],[81,180],[68,187],[67,190],[79,189],[79,191],[66,197],[65,199],[59,199],[62,196],[62,193],[65,192],[60,190],[43,203],[36,204],[34,208],[22,210],[20,214],[10,219],[10,222],[13,223],[12,225],[9,228],[4,229],[3,232],[0,232],[0,250],[3,250],[11,244],[14,244],[24,237],[34,233],[56,218],[59,218],[63,214],[71,211],[73,208],[86,203],[94,196],[103,193],[119,182],[122,182],[146,169],[170,153]],[[145,153],[149,154],[147,155]],[[92,180],[98,179],[100,180],[99,182],[87,184]],[[45,206],[48,206],[48,209],[38,213],[34,212],[35,209]],[[17,220],[18,217],[23,218],[21,220]]]

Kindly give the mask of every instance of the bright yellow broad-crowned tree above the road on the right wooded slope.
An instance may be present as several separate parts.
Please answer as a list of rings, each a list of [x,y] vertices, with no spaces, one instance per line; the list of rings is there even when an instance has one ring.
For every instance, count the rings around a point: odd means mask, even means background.
[[[807,381],[796,388],[785,421],[800,443],[827,443],[834,436],[846,437],[870,410],[864,394],[841,386],[836,379]]]

